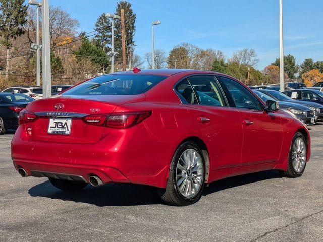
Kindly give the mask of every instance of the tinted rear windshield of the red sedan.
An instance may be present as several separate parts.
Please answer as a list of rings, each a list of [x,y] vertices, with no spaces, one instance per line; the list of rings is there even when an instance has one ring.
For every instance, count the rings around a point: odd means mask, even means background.
[[[105,75],[77,85],[62,95],[136,95],[144,93],[167,76],[158,75]]]

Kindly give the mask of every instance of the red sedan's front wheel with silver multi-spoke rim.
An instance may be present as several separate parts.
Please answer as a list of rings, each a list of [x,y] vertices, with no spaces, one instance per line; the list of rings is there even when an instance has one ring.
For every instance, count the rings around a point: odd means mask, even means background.
[[[300,177],[306,167],[307,143],[304,135],[297,132],[291,143],[288,155],[287,170],[280,173],[286,177]]]

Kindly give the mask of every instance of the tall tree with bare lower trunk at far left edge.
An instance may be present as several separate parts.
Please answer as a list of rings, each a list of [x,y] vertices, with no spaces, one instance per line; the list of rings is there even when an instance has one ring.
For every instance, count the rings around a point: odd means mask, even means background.
[[[0,0],[0,36],[4,39],[1,44],[7,49],[6,77],[9,74],[9,58],[12,40],[24,34],[23,25],[26,23],[27,5],[24,0]]]

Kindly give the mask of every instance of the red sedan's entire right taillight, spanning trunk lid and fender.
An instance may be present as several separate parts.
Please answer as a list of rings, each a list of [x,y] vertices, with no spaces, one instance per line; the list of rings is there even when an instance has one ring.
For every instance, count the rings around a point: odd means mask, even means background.
[[[126,129],[139,124],[151,115],[151,111],[116,112],[109,115],[88,115],[83,117],[87,124],[104,125],[110,128]]]

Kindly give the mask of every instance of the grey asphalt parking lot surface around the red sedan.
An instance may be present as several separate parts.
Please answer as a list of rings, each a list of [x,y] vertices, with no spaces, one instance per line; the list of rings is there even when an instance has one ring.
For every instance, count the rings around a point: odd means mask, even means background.
[[[300,178],[276,171],[212,183],[188,207],[161,204],[154,188],[88,186],[70,194],[46,178],[22,178],[0,136],[1,241],[322,241],[323,125]]]

